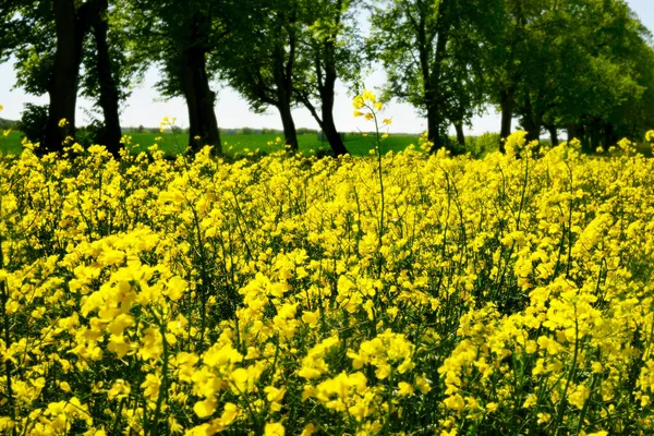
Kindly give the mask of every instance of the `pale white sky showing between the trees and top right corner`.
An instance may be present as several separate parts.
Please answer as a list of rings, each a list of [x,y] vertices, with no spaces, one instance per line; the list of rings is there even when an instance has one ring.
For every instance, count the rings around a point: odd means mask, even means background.
[[[641,22],[654,33],[654,0],[628,0],[627,3],[638,14]],[[654,66],[653,66],[654,68]],[[130,98],[122,105],[121,124],[123,126],[158,126],[164,117],[175,117],[177,124],[186,128],[189,124],[187,109],[183,98],[164,100],[154,85],[157,82],[158,71],[149,69],[144,81],[136,85]],[[379,69],[364,78],[366,88],[378,89],[386,78]],[[17,120],[21,118],[23,105],[26,102],[46,105],[47,95],[32,96],[22,89],[14,88],[16,81],[12,62],[0,64],[0,105],[4,110],[0,118]],[[216,117],[218,125],[225,129],[250,126],[254,129],[281,129],[280,117],[275,108],[269,108],[265,113],[253,113],[247,102],[235,92],[223,84],[214,83],[213,88],[217,90],[218,101],[216,104]],[[78,125],[90,122],[84,109],[93,104],[85,99],[77,100],[76,120]],[[356,130],[370,130],[361,118],[352,117],[352,96],[348,94],[347,87],[337,85],[337,96],[334,107],[336,125],[344,132]],[[295,126],[318,129],[316,121],[304,108],[293,111]],[[391,118],[391,132],[423,132],[426,130],[426,120],[421,118],[415,109],[395,100],[389,101],[384,110],[384,118]],[[486,114],[475,117],[471,126],[465,126],[467,134],[480,135],[485,132],[499,131],[499,114],[494,108],[488,108]]]

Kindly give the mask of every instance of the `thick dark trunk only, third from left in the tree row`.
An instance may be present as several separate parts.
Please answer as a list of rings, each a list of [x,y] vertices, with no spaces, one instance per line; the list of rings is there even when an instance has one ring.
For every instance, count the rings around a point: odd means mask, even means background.
[[[198,20],[202,17],[194,17],[191,24],[193,44],[182,51],[180,58],[182,88],[189,108],[189,147],[195,153],[205,145],[211,145],[213,153],[220,155],[222,144],[214,110],[216,93],[209,87],[205,49],[197,44],[201,39]]]

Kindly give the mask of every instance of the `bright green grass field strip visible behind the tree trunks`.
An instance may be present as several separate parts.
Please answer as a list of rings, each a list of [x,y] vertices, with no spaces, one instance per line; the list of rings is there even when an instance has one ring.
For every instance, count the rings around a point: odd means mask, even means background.
[[[129,134],[132,137],[132,145],[130,149],[133,153],[141,153],[147,150],[153,144],[157,143],[159,148],[166,155],[175,155],[183,150],[189,143],[187,134],[173,135],[171,133],[154,134],[154,133],[132,133]],[[155,141],[156,138],[162,138],[162,141]],[[281,143],[277,143],[276,140],[279,137]],[[22,150],[21,146],[22,133],[11,132],[5,138],[0,138],[0,153],[4,154],[20,154]],[[243,134],[243,135],[223,135],[221,136],[222,150],[230,156],[243,155],[247,153],[254,153],[256,150],[264,153],[274,153],[283,149],[283,135],[280,134]],[[300,143],[300,152],[310,155],[312,150],[318,153],[322,150],[329,150],[329,143],[326,141],[319,141],[316,134],[304,134],[299,135],[298,141]],[[269,145],[272,143],[272,145]],[[353,156],[366,156],[370,150],[374,148],[374,137],[363,136],[361,134],[346,135],[344,140],[346,147]],[[410,144],[417,145],[417,135],[397,134],[390,135],[382,143],[382,149],[384,153],[387,152],[400,152],[405,149]]]

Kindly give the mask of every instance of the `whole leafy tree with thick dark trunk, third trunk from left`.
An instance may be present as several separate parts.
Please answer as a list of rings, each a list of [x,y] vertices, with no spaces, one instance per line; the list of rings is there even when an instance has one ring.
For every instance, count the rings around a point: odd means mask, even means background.
[[[238,13],[234,1],[133,0],[129,23],[140,44],[136,57],[155,62],[161,71],[157,87],[166,97],[183,96],[189,108],[189,146],[214,146],[222,153],[220,131],[214,107],[216,93],[209,82],[211,57],[226,45],[227,17]],[[197,140],[199,138],[199,141]]]

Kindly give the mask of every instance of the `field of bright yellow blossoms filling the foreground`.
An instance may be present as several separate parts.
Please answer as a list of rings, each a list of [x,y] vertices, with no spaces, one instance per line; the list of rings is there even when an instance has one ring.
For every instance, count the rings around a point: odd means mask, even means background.
[[[652,434],[654,160],[523,136],[0,157],[0,434]]]

